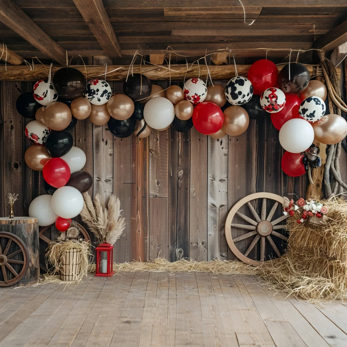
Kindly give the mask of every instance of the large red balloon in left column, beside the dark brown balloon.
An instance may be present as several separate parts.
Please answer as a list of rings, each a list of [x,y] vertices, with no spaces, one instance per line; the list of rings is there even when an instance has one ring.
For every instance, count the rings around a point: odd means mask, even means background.
[[[67,184],[71,171],[69,164],[61,158],[52,158],[44,164],[43,178],[54,188],[60,188]]]

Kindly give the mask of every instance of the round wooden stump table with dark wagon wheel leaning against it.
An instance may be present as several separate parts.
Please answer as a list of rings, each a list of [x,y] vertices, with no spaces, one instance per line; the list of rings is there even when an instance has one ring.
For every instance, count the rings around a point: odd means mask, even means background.
[[[35,284],[39,277],[37,218],[0,218],[0,287]]]

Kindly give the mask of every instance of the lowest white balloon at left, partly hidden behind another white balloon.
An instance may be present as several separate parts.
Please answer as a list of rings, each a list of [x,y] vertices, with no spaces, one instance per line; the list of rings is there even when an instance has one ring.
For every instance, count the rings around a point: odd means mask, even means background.
[[[58,215],[52,208],[52,195],[44,194],[35,197],[29,206],[29,216],[38,218],[40,227],[53,224]]]

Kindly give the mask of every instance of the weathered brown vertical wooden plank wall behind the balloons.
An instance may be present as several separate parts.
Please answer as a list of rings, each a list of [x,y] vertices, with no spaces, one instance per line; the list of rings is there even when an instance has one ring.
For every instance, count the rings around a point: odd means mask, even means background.
[[[158,84],[165,87],[167,82]],[[32,199],[45,194],[42,174],[25,165],[28,120],[15,107],[19,90],[30,90],[31,84],[2,82],[0,88],[0,215],[9,213],[8,192],[19,193],[16,215],[27,215]],[[114,84],[114,91],[121,89]],[[85,170],[94,178],[90,193],[107,200],[113,192],[120,198],[126,229],[115,245],[117,262],[158,256],[170,261],[233,259],[224,221],[235,202],[261,191],[306,195],[306,177],[291,178],[281,171],[283,151],[270,117],[251,120],[244,134],[221,139],[194,128],[120,139],[111,136],[107,125],[88,120],[79,120],[72,133],[75,145],[86,153]],[[341,174],[346,180],[344,164]]]

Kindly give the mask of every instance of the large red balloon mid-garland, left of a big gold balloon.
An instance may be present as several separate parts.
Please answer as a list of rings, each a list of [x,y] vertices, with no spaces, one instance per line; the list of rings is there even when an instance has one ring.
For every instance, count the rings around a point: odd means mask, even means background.
[[[204,135],[217,133],[223,125],[223,111],[212,102],[197,104],[193,112],[193,125],[195,129]]]

